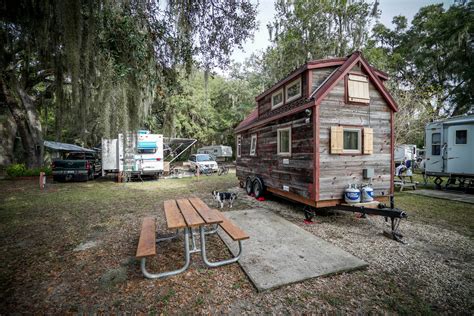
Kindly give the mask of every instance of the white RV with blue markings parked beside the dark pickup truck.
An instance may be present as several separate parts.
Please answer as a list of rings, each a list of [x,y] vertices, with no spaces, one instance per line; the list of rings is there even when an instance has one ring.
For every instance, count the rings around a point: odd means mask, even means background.
[[[163,135],[140,130],[127,142],[123,134],[102,139],[102,175],[128,171],[158,176],[163,172],[163,160]]]

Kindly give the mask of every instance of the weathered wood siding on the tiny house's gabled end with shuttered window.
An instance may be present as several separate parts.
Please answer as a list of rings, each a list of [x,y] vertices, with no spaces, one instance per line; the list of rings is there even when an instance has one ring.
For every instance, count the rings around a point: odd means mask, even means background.
[[[360,70],[354,67],[351,72]],[[369,89],[369,106],[346,104],[344,78],[341,78],[319,105],[319,200],[342,199],[348,183],[366,182],[362,177],[364,168],[374,169],[372,183],[375,196],[390,194],[391,110],[372,83]],[[330,130],[331,126],[337,125],[373,128],[373,154],[331,154]]]

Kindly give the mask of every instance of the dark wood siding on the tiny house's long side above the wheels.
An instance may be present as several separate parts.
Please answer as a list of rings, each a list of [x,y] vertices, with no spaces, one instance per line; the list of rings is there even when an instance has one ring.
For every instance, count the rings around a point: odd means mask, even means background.
[[[305,112],[273,121],[267,125],[247,130],[242,135],[242,155],[237,158],[237,177],[259,176],[265,185],[305,198],[313,198],[313,126],[306,123]],[[291,127],[291,156],[277,155],[277,129]],[[250,156],[250,139],[257,134],[256,156]],[[288,159],[288,164],[283,164]]]

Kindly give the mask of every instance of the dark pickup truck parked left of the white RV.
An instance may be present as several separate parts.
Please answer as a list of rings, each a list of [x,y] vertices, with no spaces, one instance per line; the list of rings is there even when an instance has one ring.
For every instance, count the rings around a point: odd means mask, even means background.
[[[54,181],[93,180],[102,172],[102,164],[95,153],[71,152],[66,159],[51,164]]]

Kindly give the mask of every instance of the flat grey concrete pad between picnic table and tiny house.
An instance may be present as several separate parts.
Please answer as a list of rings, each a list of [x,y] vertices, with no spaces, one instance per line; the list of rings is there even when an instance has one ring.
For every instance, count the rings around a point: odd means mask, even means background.
[[[250,236],[243,241],[239,263],[258,291],[367,266],[272,211],[251,209],[223,214]],[[235,255],[237,242],[220,229],[219,235]]]

